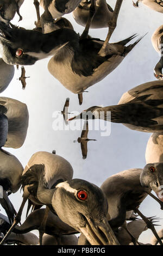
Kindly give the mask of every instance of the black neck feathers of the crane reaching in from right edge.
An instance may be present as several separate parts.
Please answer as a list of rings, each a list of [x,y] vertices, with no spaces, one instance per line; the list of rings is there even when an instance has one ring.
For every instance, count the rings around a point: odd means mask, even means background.
[[[150,96],[153,95],[152,93],[141,95],[141,93],[147,93],[148,90],[156,90],[157,88],[160,90],[160,86],[152,86],[141,91],[131,91],[131,95],[135,97],[133,100],[120,105],[101,108],[101,111],[104,111],[105,120],[107,114],[106,111],[111,111],[111,121],[114,123],[131,124],[140,127],[157,125],[157,121],[152,119],[163,115],[163,108],[159,107],[163,104],[163,100],[150,99]],[[159,128],[158,125],[157,127]]]

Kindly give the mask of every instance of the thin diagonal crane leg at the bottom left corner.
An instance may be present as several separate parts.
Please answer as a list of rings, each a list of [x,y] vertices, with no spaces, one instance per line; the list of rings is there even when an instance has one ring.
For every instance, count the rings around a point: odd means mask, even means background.
[[[28,199],[28,196],[27,197],[23,197],[23,201],[22,201],[22,204],[20,206],[20,209],[18,210],[17,212],[17,215],[15,216],[14,218],[14,222],[13,224],[11,225],[10,229],[8,230],[7,234],[5,234],[5,236],[3,237],[3,240],[1,241],[0,245],[3,245],[5,243],[5,241],[7,240],[8,236],[11,234],[12,230],[15,228],[15,226],[21,221],[21,215],[22,215],[22,211],[23,211],[23,208],[24,208],[24,205],[26,204],[27,202],[27,199]]]

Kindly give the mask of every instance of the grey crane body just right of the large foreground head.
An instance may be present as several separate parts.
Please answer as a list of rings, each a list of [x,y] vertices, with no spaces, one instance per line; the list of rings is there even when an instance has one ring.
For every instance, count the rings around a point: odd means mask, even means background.
[[[139,208],[151,188],[140,184],[142,169],[128,169],[114,174],[101,185],[109,208],[108,220],[112,228],[121,227],[126,220],[126,211]]]

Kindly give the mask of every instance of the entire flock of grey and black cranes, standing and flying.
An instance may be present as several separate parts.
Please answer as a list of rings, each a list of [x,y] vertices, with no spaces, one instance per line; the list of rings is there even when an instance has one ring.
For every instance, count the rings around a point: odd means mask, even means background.
[[[130,41],[136,34],[110,43],[123,0],[116,0],[114,10],[105,0],[40,0],[44,9],[41,17],[39,2],[34,0],[37,21],[33,30],[11,23],[16,13],[22,20],[20,7],[23,2],[0,0],[1,93],[14,76],[14,65],[17,68],[21,66],[19,80],[24,89],[27,78],[24,66],[51,57],[48,71],[66,89],[78,94],[79,105],[82,105],[86,89],[115,70],[145,36],[133,43]],[[163,12],[160,0],[139,0],[133,2],[134,7],[139,7],[139,2]],[[68,13],[72,13],[74,20],[84,27],[81,35],[74,31],[70,21],[62,17]],[[109,28],[105,40],[91,38],[90,28],[104,27]],[[162,31],[161,26],[152,36],[152,44],[160,53]],[[154,68],[157,80],[130,89],[114,106],[92,106],[69,118],[70,99],[67,97],[61,111],[65,124],[74,119],[85,120],[82,134],[77,139],[83,159],[87,157],[87,142],[96,141],[87,138],[90,118],[153,133],[147,144],[146,166],[109,176],[101,187],[83,179],[74,179],[70,162],[56,155],[55,150],[52,153],[37,151],[23,168],[21,162],[3,147],[16,149],[25,143],[28,105],[0,97],[0,203],[7,214],[0,214],[1,245],[141,245],[139,236],[148,228],[154,235],[151,244],[163,245],[162,229],[157,232],[154,227],[159,218],[146,217],[139,209],[148,195],[163,209],[162,67],[161,56]],[[8,196],[20,187],[23,199],[16,212]],[[26,220],[21,223],[27,201]],[[46,208],[40,209],[42,206]],[[34,229],[39,230],[39,238],[30,233]],[[78,239],[76,234],[79,233]]]

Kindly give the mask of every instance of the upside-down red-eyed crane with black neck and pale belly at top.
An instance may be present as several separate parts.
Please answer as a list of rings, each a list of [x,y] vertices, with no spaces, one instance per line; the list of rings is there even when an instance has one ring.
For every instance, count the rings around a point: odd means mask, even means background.
[[[0,30],[3,32],[0,38],[2,58],[6,63],[33,65],[39,59],[53,56],[48,63],[49,72],[73,93],[84,92],[110,74],[142,39],[126,46],[135,38],[133,35],[108,44],[103,55],[99,51],[104,41],[96,38],[80,39],[72,29],[62,28],[41,34],[20,28],[10,29],[0,23]],[[21,49],[21,56],[15,56],[17,49]]]

